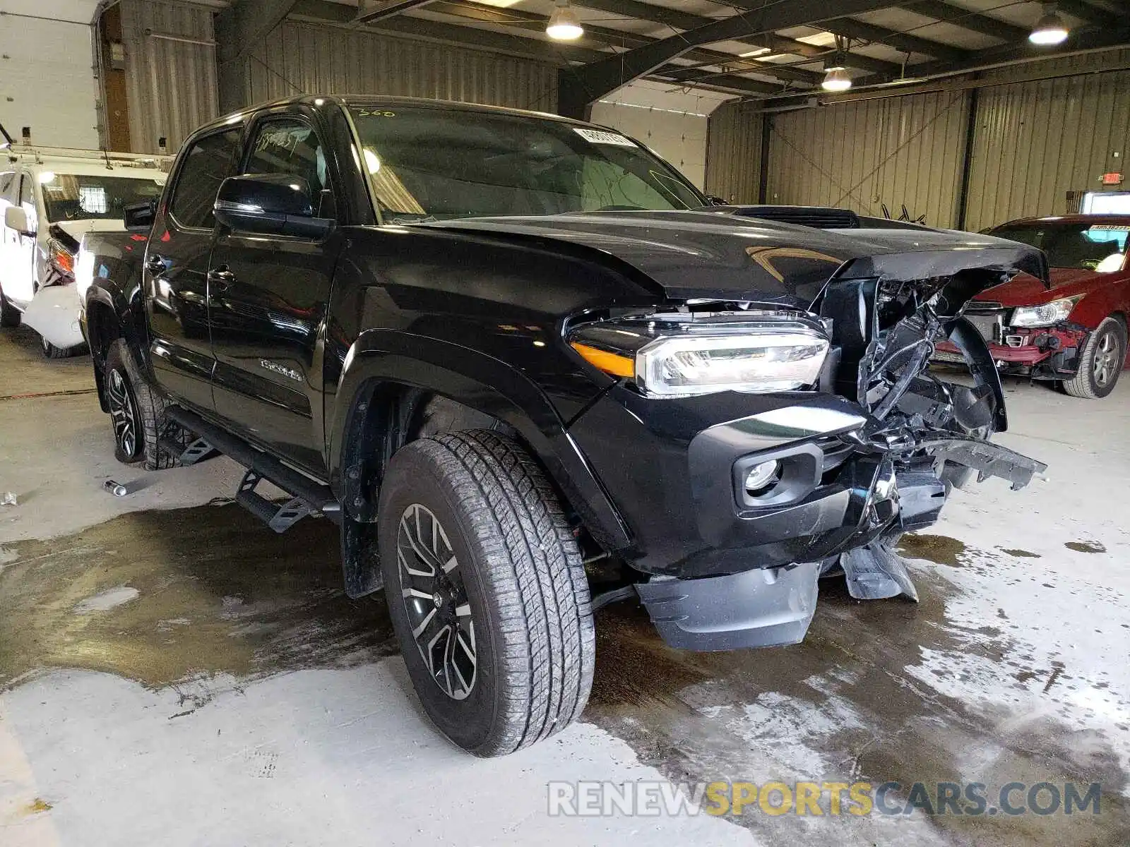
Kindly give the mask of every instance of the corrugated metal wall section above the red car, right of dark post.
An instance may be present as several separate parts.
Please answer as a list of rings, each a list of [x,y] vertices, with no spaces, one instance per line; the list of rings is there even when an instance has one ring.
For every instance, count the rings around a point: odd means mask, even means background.
[[[1084,69],[1086,56],[1075,56]],[[966,228],[1062,215],[1068,192],[1124,171],[1130,71],[993,86],[977,106]],[[1118,155],[1115,155],[1118,154]]]

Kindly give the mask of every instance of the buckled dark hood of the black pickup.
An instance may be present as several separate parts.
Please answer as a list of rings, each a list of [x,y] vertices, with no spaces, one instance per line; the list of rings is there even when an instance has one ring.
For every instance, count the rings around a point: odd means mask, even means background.
[[[619,260],[675,299],[725,298],[807,308],[833,274],[928,279],[964,269],[1046,278],[1017,242],[941,229],[816,229],[719,211],[576,212],[464,218],[418,226],[557,242]]]

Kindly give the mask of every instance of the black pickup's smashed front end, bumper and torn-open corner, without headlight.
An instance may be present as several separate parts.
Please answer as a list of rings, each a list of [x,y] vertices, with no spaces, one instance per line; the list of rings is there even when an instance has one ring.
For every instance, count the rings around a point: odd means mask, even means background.
[[[1019,264],[1045,272],[1036,253],[1022,253]],[[933,524],[953,488],[999,477],[1018,489],[1045,470],[990,440],[1008,426],[1003,390],[964,316],[974,295],[1019,270],[1012,262],[979,264],[959,251],[867,256],[845,262],[802,312],[762,313],[819,324],[827,360],[809,391],[759,395],[750,402],[767,404],[765,411],[690,437],[689,510],[706,549],[636,585],[669,645],[797,643],[811,621],[818,578],[840,570],[857,599],[916,601],[896,552],[899,536]],[[696,306],[730,314],[763,307]],[[689,320],[696,317],[720,314]],[[967,376],[930,370],[942,341],[960,350]],[[668,426],[649,418],[649,404],[621,402],[649,428]],[[768,481],[748,482],[758,469],[772,469]],[[723,477],[728,486],[719,484]]]

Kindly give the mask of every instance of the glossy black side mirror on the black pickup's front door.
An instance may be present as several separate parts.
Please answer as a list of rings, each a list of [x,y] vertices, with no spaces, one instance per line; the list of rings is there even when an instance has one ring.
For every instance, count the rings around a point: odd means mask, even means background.
[[[216,195],[216,220],[235,232],[322,238],[333,220],[314,217],[310,184],[290,174],[229,176]]]

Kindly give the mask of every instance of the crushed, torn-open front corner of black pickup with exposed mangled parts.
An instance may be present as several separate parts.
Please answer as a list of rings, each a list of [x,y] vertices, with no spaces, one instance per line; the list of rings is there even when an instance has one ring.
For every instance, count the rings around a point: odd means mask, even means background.
[[[950,489],[974,474],[979,481],[1001,477],[1016,490],[1046,469],[989,440],[1008,427],[1005,396],[992,357],[963,311],[975,294],[1002,281],[1005,274],[989,270],[920,281],[842,280],[814,304],[832,321],[840,353],[835,391],[868,416],[847,435],[862,454],[852,473],[858,490],[867,490],[857,503],[866,543],[822,565],[825,574],[843,569],[852,596],[918,600],[894,550],[902,533],[937,521]],[[928,369],[940,340],[962,351],[972,385]]]

